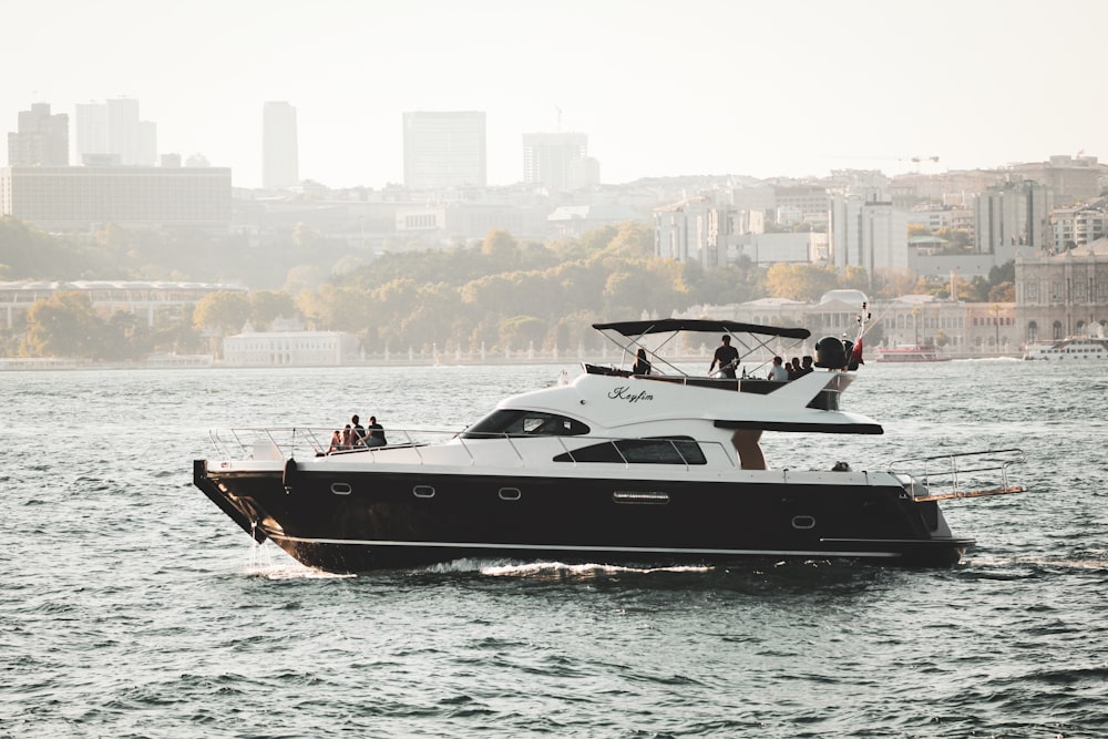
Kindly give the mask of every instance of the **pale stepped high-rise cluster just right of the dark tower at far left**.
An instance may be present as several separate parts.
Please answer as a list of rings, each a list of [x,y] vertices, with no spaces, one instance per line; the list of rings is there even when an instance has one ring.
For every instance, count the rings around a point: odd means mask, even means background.
[[[152,166],[157,161],[157,125],[138,120],[133,97],[78,103],[74,131],[74,164]]]

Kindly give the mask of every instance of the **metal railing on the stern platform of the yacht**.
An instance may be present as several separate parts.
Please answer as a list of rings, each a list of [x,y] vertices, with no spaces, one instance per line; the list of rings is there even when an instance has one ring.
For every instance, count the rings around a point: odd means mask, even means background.
[[[1027,490],[1008,480],[1008,468],[1026,459],[1022,449],[991,449],[899,460],[889,471],[919,502],[982,497]]]

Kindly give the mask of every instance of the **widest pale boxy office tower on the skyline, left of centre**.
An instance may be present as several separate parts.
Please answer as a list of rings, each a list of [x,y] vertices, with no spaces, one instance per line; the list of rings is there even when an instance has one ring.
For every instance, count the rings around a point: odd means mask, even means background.
[[[403,124],[406,186],[424,189],[488,184],[484,113],[404,113]]]

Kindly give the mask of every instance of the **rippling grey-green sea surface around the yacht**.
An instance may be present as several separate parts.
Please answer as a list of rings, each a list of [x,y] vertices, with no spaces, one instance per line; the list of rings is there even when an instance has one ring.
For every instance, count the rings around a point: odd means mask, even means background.
[[[0,373],[0,737],[1108,737],[1108,363],[866,365],[885,435],[1022,448],[950,568],[464,561],[334,576],[192,486],[208,430],[460,430],[573,363]]]

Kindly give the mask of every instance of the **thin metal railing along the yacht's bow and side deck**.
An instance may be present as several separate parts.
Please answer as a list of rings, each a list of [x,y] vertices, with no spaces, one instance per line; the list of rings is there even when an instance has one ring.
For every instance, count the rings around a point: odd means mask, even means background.
[[[434,462],[473,466],[483,462],[503,464],[503,453],[482,444],[488,440],[504,440],[515,454],[516,464],[527,468],[548,464],[552,459],[576,466],[583,462],[611,462],[625,468],[643,461],[643,455],[668,455],[668,463],[684,465],[686,470],[720,464],[738,466],[729,447],[718,441],[688,438],[558,435],[543,433],[475,433],[427,429],[387,429],[384,447],[357,445],[330,450],[331,429],[326,428],[236,428],[209,432],[213,445],[225,460],[305,459],[315,456],[356,455],[358,461],[378,461],[375,452],[389,451],[390,462],[429,463],[428,450],[434,448]],[[451,445],[445,441],[453,441]],[[547,443],[536,444],[545,441]],[[474,443],[476,442],[476,443]],[[572,442],[572,443],[571,443]],[[582,443],[584,442],[584,443]],[[503,449],[497,445],[497,449]],[[450,459],[451,450],[456,459]]]

